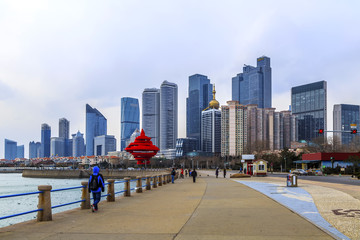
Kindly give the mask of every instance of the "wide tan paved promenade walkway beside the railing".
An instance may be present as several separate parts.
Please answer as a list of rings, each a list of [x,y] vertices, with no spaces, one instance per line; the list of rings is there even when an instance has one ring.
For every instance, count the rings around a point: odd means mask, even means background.
[[[0,239],[333,239],[265,195],[229,179],[179,179],[103,202],[99,212],[71,210],[52,222],[0,229]]]

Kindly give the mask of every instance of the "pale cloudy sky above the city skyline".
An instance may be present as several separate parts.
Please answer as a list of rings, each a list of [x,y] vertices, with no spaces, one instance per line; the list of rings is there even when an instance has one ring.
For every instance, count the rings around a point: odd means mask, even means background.
[[[120,99],[140,101],[164,80],[178,85],[178,137],[186,137],[188,77],[231,100],[231,78],[271,58],[272,105],[291,104],[291,88],[327,81],[333,105],[360,104],[360,1],[357,0],[0,0],[0,158],[4,139],[41,140],[85,132],[85,104],[108,120],[120,147]]]

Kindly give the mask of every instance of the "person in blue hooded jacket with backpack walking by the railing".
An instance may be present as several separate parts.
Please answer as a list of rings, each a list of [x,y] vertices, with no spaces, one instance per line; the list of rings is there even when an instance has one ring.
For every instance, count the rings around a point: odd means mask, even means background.
[[[104,192],[104,177],[99,172],[99,167],[95,166],[88,183],[88,191],[89,193],[92,192],[94,198],[94,202],[91,205],[92,212],[96,212],[98,210],[98,203],[101,200],[101,192]]]

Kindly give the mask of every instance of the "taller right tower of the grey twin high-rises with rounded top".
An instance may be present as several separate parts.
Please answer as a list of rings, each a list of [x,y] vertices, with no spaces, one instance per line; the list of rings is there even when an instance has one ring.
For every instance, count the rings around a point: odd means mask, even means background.
[[[164,81],[160,87],[160,150],[175,149],[178,133],[178,87]]]

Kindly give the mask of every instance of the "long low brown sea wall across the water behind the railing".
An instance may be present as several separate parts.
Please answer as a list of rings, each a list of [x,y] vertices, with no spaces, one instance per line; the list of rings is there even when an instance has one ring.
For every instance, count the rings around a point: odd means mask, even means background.
[[[136,178],[137,176],[146,175],[162,175],[168,174],[170,171],[161,170],[115,170],[115,169],[102,169],[100,173],[104,178],[122,179],[125,177]],[[22,176],[30,178],[89,178],[92,174],[91,170],[24,170]]]

